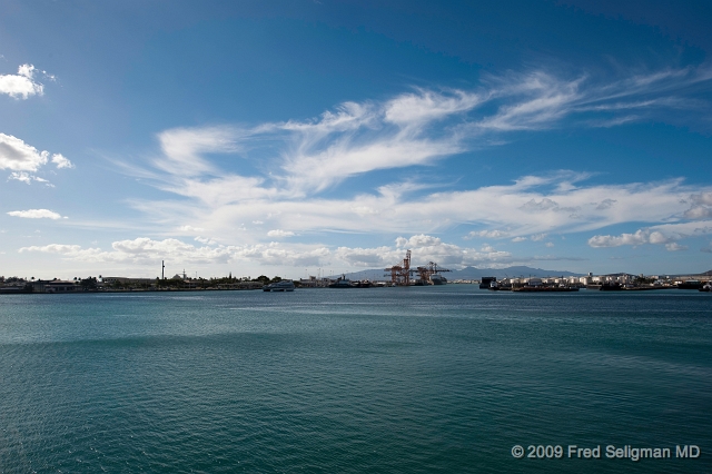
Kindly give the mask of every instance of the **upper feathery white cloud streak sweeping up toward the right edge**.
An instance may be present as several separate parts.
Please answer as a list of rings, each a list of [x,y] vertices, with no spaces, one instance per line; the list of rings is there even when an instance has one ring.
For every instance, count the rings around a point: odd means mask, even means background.
[[[220,204],[305,197],[353,176],[428,165],[490,146],[497,141],[494,135],[564,126],[564,118],[566,127],[612,127],[664,110],[703,111],[706,102],[682,96],[691,87],[709,88],[711,78],[703,68],[609,82],[533,71],[491,77],[476,90],[414,89],[380,102],[344,102],[308,120],[171,129],[158,136],[161,155],[154,165],[161,172],[152,176],[162,189],[198,199],[227,196]],[[225,172],[208,154],[259,157],[265,166],[247,175]],[[229,189],[241,192],[222,192]]]

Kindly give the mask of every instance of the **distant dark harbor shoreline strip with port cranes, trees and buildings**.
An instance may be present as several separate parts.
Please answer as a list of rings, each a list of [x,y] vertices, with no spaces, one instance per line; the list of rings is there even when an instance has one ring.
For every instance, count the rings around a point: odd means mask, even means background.
[[[561,277],[481,277],[478,279],[452,279],[448,282],[442,274],[452,271],[435,261],[422,266],[412,265],[412,253],[407,250],[403,260],[384,268],[378,279],[349,279],[346,274],[339,277],[307,276],[301,279],[283,279],[279,276],[269,278],[260,275],[257,278],[234,277],[230,273],[221,278],[188,277],[185,270],[171,278],[165,276],[165,264],[161,263],[161,276],[156,278],[131,277],[88,277],[73,280],[36,279],[0,276],[0,294],[68,294],[68,293],[105,293],[105,292],[199,292],[199,290],[250,290],[264,289],[288,292],[294,288],[385,288],[409,286],[439,286],[446,284],[474,284],[481,289],[492,292],[515,293],[557,293],[577,292],[580,289],[602,292],[642,292],[655,289],[694,289],[712,290],[712,270],[699,275],[631,275],[610,274]]]

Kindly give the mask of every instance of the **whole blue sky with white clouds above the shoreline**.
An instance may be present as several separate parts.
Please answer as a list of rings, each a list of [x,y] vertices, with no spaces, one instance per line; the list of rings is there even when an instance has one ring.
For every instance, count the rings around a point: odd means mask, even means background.
[[[712,269],[706,1],[0,1],[0,275]]]

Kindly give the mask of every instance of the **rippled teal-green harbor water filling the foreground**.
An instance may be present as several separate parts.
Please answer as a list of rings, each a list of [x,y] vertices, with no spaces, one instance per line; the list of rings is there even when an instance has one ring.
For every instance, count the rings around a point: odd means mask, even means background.
[[[1,295],[0,472],[710,473],[712,295]]]

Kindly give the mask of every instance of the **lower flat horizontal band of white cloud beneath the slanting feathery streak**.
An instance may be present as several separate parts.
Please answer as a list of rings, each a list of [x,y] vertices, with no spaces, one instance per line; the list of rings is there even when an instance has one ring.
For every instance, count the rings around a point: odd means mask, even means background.
[[[211,235],[239,236],[251,241],[265,235],[265,227],[301,235],[408,234],[437,233],[462,225],[484,227],[466,234],[466,238],[501,238],[506,233],[511,238],[540,241],[552,233],[590,231],[630,221],[680,223],[685,220],[691,191],[706,190],[685,186],[681,180],[572,185],[570,176],[562,174],[418,196],[413,196],[407,187],[385,187],[349,198],[253,199],[216,208],[172,200],[137,201],[134,206],[166,227],[175,227],[176,221],[191,221]],[[493,201],[496,207],[482,206]],[[535,211],[527,206],[531,203],[535,204]],[[545,205],[538,206],[542,203]]]

